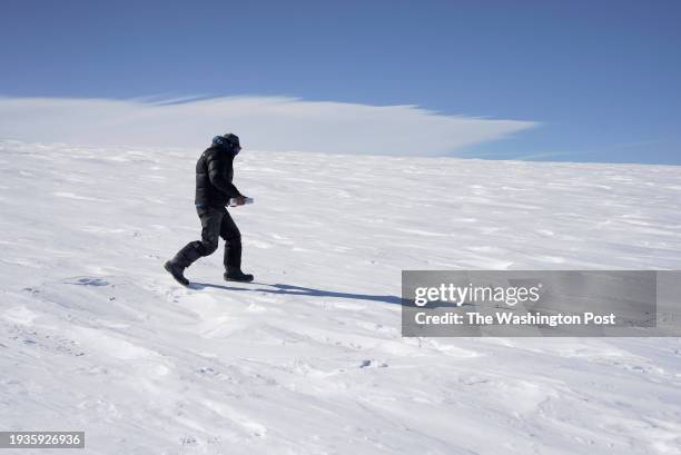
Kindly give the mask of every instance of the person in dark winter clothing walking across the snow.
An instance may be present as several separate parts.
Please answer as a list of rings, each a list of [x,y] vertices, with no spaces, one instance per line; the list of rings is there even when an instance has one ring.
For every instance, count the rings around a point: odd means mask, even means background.
[[[234,186],[234,158],[241,150],[239,138],[227,133],[213,138],[196,162],[196,211],[201,221],[201,239],[187,244],[164,266],[182,286],[189,280],[184,271],[199,257],[213,254],[218,247],[218,237],[225,240],[225,279],[228,281],[253,281],[253,275],[241,271],[241,234],[225,208],[235,198],[237,206],[246,201]]]

